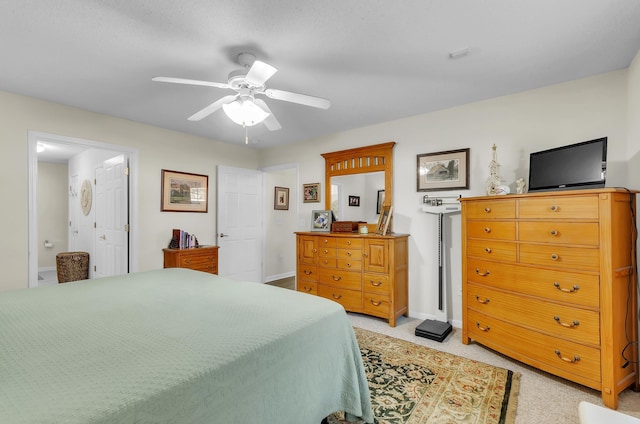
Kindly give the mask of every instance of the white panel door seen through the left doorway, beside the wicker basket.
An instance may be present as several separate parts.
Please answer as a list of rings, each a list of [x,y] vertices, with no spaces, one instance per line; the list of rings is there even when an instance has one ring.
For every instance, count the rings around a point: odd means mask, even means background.
[[[129,272],[127,160],[116,156],[96,168],[94,278]]]

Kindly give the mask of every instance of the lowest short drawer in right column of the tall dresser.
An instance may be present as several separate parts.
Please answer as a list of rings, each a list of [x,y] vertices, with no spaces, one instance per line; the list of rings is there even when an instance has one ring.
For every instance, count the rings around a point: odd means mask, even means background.
[[[598,271],[600,252],[598,249],[588,247],[521,243],[520,263]]]

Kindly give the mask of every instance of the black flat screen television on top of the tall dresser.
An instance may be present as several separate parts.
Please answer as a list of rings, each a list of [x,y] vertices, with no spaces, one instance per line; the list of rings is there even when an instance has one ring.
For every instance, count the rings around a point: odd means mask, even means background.
[[[607,175],[607,137],[531,153],[529,191],[602,188]]]

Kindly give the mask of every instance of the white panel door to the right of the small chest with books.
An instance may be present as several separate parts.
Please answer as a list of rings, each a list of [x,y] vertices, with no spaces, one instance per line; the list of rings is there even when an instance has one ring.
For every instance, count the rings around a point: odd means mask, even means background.
[[[217,180],[218,274],[262,283],[263,173],[218,166]]]

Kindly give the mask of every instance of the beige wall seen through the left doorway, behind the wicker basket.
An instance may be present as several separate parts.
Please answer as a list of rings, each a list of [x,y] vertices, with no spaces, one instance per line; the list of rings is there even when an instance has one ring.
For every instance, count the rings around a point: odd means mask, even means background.
[[[38,268],[56,266],[56,254],[67,251],[69,190],[66,164],[38,164]],[[53,247],[45,247],[45,241]]]

